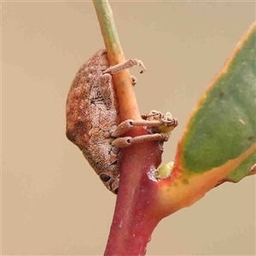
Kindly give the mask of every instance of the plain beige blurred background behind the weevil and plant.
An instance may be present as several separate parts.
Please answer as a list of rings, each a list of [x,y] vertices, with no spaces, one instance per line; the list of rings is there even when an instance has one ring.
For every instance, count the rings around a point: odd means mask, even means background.
[[[255,18],[255,3],[115,2],[142,113],[172,111],[172,160],[196,99]],[[103,47],[93,5],[2,3],[2,253],[102,254],[115,196],[65,137],[67,91]],[[255,255],[255,178],[164,219],[148,255]]]

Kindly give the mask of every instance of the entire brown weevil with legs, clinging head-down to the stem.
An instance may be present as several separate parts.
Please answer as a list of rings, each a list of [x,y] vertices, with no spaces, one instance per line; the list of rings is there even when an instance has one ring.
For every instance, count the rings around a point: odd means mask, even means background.
[[[128,60],[110,67],[106,50],[101,49],[79,68],[67,96],[67,138],[83,152],[90,166],[105,186],[117,194],[119,188],[120,148],[144,141],[167,141],[177,119],[151,111],[143,120],[119,123],[119,105],[113,88],[112,75],[120,70],[139,66],[142,61]],[[135,79],[131,78],[132,83]],[[135,125],[145,126],[148,134],[119,137]],[[167,127],[160,133],[158,127]]]

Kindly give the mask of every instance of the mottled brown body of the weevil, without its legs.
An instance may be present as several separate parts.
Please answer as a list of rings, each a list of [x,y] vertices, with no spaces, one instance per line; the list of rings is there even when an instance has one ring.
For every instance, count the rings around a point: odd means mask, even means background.
[[[67,96],[67,138],[76,144],[98,175],[110,177],[105,186],[114,191],[119,181],[119,148],[111,132],[119,125],[118,103],[105,50],[99,50],[79,68]]]

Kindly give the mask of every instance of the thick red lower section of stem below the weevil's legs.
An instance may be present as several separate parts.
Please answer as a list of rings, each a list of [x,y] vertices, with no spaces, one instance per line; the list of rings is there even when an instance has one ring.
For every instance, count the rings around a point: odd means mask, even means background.
[[[157,210],[158,183],[148,172],[160,165],[158,143],[123,150],[121,178],[105,256],[145,255],[148,241],[162,218]]]

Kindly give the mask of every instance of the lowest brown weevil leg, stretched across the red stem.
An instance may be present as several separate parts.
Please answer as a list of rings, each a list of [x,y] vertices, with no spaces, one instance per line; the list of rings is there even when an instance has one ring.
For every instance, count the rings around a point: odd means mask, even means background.
[[[170,137],[169,133],[154,133],[146,134],[137,137],[119,137],[113,140],[112,145],[118,148],[130,147],[137,143],[145,143],[150,141],[164,141],[166,142]]]

